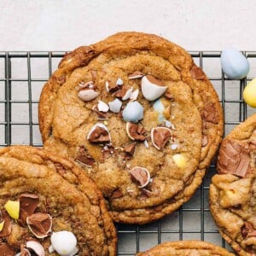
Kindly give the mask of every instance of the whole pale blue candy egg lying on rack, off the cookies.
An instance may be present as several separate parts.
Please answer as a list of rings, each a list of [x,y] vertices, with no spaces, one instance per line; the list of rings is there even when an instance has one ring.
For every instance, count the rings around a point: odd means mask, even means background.
[[[224,49],[220,61],[225,75],[230,79],[243,79],[250,69],[247,58],[235,48]]]

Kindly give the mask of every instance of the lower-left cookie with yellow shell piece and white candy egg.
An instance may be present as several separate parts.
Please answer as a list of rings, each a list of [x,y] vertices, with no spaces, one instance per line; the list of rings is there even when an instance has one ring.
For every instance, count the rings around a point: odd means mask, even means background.
[[[1,255],[116,255],[102,193],[73,162],[26,146],[0,149]]]

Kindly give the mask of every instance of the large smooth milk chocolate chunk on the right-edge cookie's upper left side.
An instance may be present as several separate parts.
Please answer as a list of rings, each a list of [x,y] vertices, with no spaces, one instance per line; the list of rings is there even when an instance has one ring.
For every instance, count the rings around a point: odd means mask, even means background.
[[[218,154],[218,173],[245,177],[250,170],[250,151],[232,139],[225,139]]]

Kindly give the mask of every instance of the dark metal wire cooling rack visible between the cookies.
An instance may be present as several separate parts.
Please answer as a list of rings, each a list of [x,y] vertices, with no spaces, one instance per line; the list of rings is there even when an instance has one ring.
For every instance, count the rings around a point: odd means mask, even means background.
[[[230,80],[220,67],[220,52],[190,52],[218,92],[224,108],[224,134],[255,110],[242,101],[242,90],[256,77],[256,52],[242,52],[250,62],[247,79]],[[26,144],[42,147],[38,128],[38,99],[44,83],[65,52],[0,51],[0,147]],[[119,255],[134,255],[164,242],[197,239],[230,247],[218,233],[208,206],[208,190],[216,173],[215,160],[192,199],[171,215],[153,224],[118,224]]]

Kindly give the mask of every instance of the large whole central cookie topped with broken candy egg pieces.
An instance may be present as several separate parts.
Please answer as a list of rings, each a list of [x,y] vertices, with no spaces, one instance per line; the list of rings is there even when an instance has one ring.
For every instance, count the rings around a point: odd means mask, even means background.
[[[117,222],[144,224],[194,194],[218,148],[218,96],[164,38],[121,32],[64,56],[39,102],[44,148],[94,179]]]

